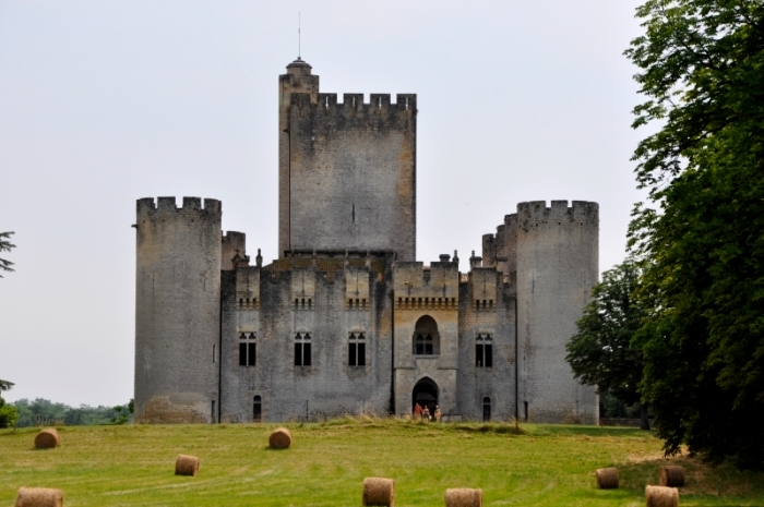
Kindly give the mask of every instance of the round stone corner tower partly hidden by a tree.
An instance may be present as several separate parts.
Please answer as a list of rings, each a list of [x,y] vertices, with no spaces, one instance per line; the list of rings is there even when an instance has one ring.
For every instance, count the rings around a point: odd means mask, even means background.
[[[599,205],[517,205],[520,414],[530,421],[598,424],[596,388],[573,378],[565,343],[599,277]]]

